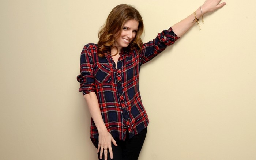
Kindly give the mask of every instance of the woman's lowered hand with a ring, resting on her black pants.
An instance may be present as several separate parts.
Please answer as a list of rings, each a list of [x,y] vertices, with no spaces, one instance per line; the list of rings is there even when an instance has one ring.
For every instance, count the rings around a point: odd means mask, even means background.
[[[112,152],[111,142],[115,146],[117,146],[116,141],[111,136],[111,134],[108,132],[108,130],[104,130],[103,132],[99,132],[99,144],[98,144],[97,153],[100,152],[100,154],[99,154],[100,159],[102,159],[103,152],[104,152],[105,160],[108,159],[108,150],[109,150],[110,158],[113,159],[113,152]]]

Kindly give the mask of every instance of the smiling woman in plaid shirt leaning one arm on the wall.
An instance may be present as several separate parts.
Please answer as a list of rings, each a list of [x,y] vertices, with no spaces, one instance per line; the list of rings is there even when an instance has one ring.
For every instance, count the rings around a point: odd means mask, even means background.
[[[139,12],[125,4],[113,8],[99,31],[98,44],[84,46],[77,77],[92,117],[91,140],[99,159],[138,159],[149,123],[138,86],[140,66],[199,24],[205,13],[226,5],[220,1],[206,0],[193,14],[144,44]]]

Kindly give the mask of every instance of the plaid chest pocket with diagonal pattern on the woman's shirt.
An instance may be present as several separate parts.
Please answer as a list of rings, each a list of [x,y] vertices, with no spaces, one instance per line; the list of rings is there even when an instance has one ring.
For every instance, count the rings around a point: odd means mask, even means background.
[[[94,69],[97,84],[111,83],[111,70],[108,64],[99,64]]]

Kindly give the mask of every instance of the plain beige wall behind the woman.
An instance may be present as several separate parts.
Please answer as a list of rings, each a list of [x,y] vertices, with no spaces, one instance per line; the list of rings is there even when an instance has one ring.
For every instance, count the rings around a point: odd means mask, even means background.
[[[256,1],[226,2],[142,67],[140,160],[256,159]],[[121,3],[138,8],[147,42],[203,0],[1,0],[1,160],[97,159],[76,76],[83,46]]]

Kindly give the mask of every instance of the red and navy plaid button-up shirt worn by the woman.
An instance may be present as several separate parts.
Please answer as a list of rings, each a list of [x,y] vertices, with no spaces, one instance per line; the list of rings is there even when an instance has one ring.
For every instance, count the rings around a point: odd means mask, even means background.
[[[97,44],[84,46],[80,59],[81,74],[77,76],[81,84],[79,92],[96,93],[103,121],[113,138],[125,140],[127,130],[131,138],[147,127],[149,120],[139,91],[140,66],[177,39],[172,28],[163,30],[153,41],[144,43],[141,52],[139,48],[132,52],[125,48],[121,50],[117,64],[109,52],[105,57],[99,57]],[[91,138],[98,138],[93,120]]]

